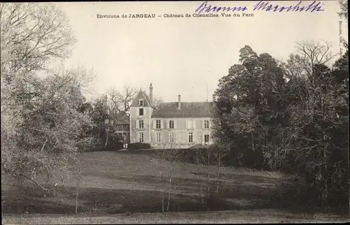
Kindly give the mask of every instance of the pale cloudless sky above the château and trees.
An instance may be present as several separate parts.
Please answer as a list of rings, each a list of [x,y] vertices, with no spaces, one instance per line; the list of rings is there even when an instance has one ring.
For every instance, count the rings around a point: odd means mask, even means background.
[[[258,1],[208,1],[211,6],[246,6],[253,17],[168,17],[193,15],[203,1],[57,3],[77,39],[65,67],[94,71],[87,99],[111,88],[144,89],[163,101],[211,101],[218,80],[239,63],[239,50],[250,45],[258,54],[287,59],[297,41],[328,41],[339,53],[339,4],[321,1],[320,12],[253,11]],[[302,1],[307,5],[312,1]],[[295,1],[269,1],[280,6]],[[155,13],[155,18],[97,18],[99,15]],[[203,13],[202,13],[203,14]],[[163,15],[163,17],[158,17]],[[347,22],[342,34],[347,41]],[[345,50],[343,50],[344,52]]]

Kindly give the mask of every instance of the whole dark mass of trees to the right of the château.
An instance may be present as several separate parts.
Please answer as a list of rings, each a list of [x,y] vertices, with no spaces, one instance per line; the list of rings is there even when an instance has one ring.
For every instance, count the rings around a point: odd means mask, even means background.
[[[330,45],[316,41],[297,43],[287,61],[241,48],[214,103],[226,163],[296,174],[320,202],[347,201],[348,57],[346,50],[330,64]]]

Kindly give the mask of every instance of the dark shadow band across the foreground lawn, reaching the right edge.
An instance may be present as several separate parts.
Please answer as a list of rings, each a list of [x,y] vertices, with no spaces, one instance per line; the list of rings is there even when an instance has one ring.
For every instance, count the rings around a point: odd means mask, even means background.
[[[155,177],[159,178],[159,177]],[[149,176],[130,177],[138,182],[157,182]],[[190,182],[190,183],[189,183]],[[241,185],[228,185],[221,183],[219,198],[202,198],[200,189],[193,179],[174,179],[173,189],[181,189],[181,194],[172,193],[169,205],[169,212],[199,212],[207,210],[263,210],[279,208],[286,212],[295,213],[321,213],[327,212],[325,208],[316,208],[315,206],[293,205],[292,197],[282,196],[278,189],[272,191],[263,187],[247,188],[244,182]],[[204,183],[203,183],[204,184]],[[215,181],[210,183],[211,191],[215,191]],[[197,187],[197,191],[188,188]],[[67,196],[69,201],[62,201],[61,198],[46,195],[38,187],[22,187],[22,189],[10,189],[2,192],[2,210],[6,214],[75,214],[75,194],[76,189],[59,187],[59,193]],[[206,192],[203,186],[203,193]],[[113,215],[123,212],[162,212],[162,197],[164,196],[164,206],[167,208],[167,185],[165,192],[151,190],[132,190],[132,189],[100,189],[100,188],[82,188],[79,192],[78,212],[80,214],[92,215]],[[211,196],[214,193],[211,192]],[[290,201],[288,204],[283,201]],[[291,207],[294,206],[294,207]],[[339,209],[332,209],[333,211]],[[332,210],[328,210],[332,212]],[[342,213],[336,213],[342,217],[347,215],[344,209]],[[332,212],[334,213],[334,212]]]

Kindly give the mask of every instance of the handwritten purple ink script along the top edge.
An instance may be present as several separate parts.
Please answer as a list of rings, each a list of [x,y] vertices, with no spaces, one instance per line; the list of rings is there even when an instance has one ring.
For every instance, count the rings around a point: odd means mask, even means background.
[[[195,13],[218,13],[218,12],[245,12],[248,10],[246,6],[211,6],[208,1],[204,1],[195,10]],[[255,6],[253,6],[253,11],[272,11],[272,12],[318,12],[323,11],[321,6],[321,1],[307,1],[307,3],[302,3],[302,1],[295,1],[295,4],[290,6],[280,6],[278,4],[269,3],[268,1],[259,1]]]

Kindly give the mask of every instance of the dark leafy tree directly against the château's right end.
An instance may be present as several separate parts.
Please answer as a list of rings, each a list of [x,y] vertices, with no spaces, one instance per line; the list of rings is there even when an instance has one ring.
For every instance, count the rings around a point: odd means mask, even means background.
[[[268,162],[274,161],[269,158],[274,158],[272,149],[279,145],[273,139],[286,126],[287,115],[281,113],[286,107],[286,80],[270,55],[257,55],[249,46],[239,52],[241,64],[230,68],[216,91],[214,135],[231,143],[231,159],[237,159],[234,164],[264,168],[274,164]],[[267,147],[267,143],[276,147]]]

